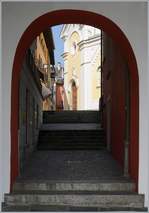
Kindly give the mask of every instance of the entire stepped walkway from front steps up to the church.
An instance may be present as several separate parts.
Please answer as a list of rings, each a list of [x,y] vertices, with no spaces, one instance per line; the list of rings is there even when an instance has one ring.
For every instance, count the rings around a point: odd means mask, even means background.
[[[44,112],[38,149],[3,211],[147,211],[105,149],[99,112]]]

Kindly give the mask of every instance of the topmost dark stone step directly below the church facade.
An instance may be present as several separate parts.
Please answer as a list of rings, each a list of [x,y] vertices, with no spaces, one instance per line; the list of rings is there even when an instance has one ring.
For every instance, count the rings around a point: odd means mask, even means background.
[[[44,111],[43,123],[100,123],[99,111]]]

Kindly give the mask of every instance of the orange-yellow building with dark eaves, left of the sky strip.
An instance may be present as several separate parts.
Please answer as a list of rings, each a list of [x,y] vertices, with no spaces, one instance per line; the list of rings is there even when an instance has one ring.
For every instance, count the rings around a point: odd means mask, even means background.
[[[54,65],[54,41],[51,29],[45,32],[41,32],[34,41],[34,59],[35,63],[41,72],[41,84],[42,84],[42,95],[43,95],[43,110],[53,110],[55,104],[51,99],[51,67]],[[51,66],[52,65],[52,66]]]

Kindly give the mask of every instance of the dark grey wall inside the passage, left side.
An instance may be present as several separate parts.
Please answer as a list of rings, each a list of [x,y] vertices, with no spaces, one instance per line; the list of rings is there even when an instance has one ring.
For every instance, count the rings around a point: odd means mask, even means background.
[[[21,70],[19,96],[19,172],[21,172],[36,148],[42,123],[42,96],[26,62],[23,63]]]

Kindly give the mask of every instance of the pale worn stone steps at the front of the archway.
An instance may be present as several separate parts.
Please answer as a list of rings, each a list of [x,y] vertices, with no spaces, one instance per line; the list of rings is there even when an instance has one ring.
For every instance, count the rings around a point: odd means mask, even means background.
[[[17,182],[3,211],[146,211],[131,182]]]

